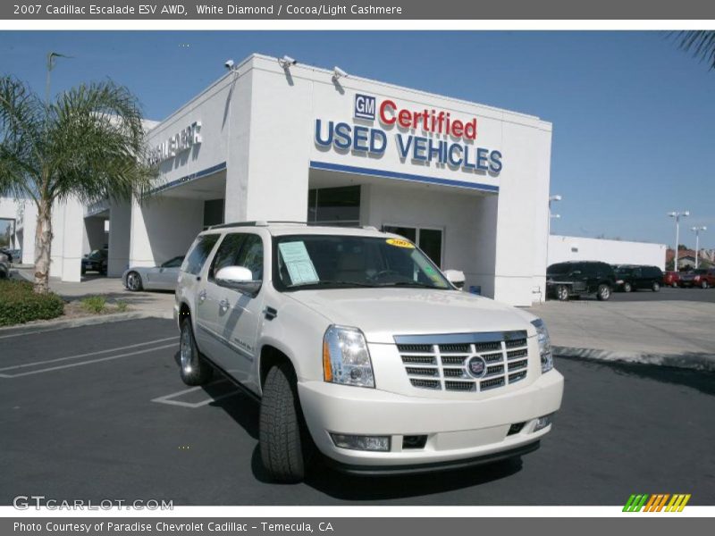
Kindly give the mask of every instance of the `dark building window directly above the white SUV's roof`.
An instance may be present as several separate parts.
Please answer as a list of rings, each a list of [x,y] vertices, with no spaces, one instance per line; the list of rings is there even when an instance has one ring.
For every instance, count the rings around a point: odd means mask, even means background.
[[[309,189],[307,222],[310,225],[359,225],[360,187]]]

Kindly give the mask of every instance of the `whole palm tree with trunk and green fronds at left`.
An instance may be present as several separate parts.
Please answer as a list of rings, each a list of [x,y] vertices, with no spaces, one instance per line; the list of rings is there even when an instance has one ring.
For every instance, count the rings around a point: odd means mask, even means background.
[[[38,206],[36,292],[49,290],[56,202],[147,192],[156,170],[146,164],[144,134],[137,98],[112,81],[80,84],[43,102],[27,84],[0,77],[0,196]]]

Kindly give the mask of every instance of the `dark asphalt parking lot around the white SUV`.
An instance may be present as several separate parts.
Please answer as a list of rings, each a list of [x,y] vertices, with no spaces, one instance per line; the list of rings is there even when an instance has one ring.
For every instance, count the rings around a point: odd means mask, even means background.
[[[689,290],[688,290],[689,291]],[[692,292],[697,293],[695,289]],[[712,292],[715,295],[715,291]],[[469,471],[267,482],[257,403],[187,388],[171,321],[0,336],[0,504],[164,498],[175,505],[618,505],[634,492],[715,502],[715,375],[559,358],[562,410],[542,448]]]

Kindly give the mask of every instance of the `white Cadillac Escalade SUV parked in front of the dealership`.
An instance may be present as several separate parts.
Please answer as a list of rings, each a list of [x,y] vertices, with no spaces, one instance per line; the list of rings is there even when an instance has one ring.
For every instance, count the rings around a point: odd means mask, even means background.
[[[260,398],[277,481],[302,479],[315,448],[367,474],[520,456],[561,404],[541,320],[456,289],[414,244],[372,228],[206,230],[174,315],[183,381],[215,368]]]

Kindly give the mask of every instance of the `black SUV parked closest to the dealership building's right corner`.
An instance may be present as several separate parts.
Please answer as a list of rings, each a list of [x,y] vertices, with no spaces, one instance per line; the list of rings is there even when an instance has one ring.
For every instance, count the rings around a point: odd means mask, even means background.
[[[595,294],[598,299],[610,298],[616,287],[616,274],[610,264],[598,261],[568,261],[551,264],[546,269],[546,294],[561,301],[571,296]]]

